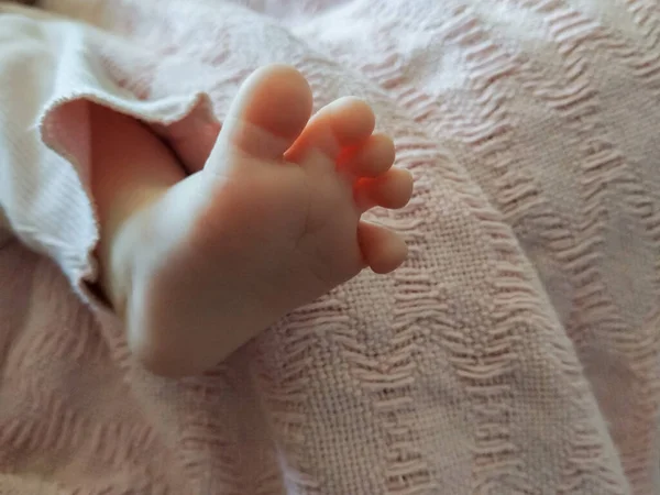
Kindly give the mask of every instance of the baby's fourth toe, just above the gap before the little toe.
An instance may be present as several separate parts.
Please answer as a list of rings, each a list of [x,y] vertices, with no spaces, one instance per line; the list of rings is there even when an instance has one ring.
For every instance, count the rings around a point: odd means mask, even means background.
[[[399,209],[413,196],[413,176],[403,168],[392,168],[375,178],[362,178],[355,184],[355,205],[362,212],[383,207]]]

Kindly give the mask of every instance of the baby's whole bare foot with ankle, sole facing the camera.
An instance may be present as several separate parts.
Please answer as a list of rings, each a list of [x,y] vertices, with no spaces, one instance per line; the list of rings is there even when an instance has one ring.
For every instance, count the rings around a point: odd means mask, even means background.
[[[311,108],[297,70],[257,70],[199,170],[134,119],[92,108],[100,288],[154,373],[204,372],[363,268],[405,261],[396,233],[361,219],[410,199],[392,140],[355,98]]]

